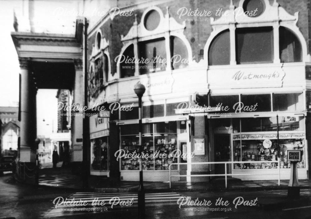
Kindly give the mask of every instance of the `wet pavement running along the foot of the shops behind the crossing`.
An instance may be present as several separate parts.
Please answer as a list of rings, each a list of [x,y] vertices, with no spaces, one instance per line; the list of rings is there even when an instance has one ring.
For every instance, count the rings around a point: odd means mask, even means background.
[[[42,168],[43,167],[43,168]],[[39,171],[39,185],[52,186],[64,189],[81,190],[82,178],[79,174],[72,174],[69,168],[58,167],[44,164]],[[139,187],[137,181],[120,181],[120,184],[111,185],[109,178],[105,176],[89,176],[89,191],[95,192],[136,192]],[[281,190],[287,189],[289,180],[281,180],[278,185],[277,180],[252,180],[242,181],[228,177],[228,186],[225,188],[225,179],[213,179],[210,182],[149,182],[144,181],[146,192],[171,192],[171,191],[259,191],[259,190]],[[311,180],[299,180],[301,189],[311,188]]]

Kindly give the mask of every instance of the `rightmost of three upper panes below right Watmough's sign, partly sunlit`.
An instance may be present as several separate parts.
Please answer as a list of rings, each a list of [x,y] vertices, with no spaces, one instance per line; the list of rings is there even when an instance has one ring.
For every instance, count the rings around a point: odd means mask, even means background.
[[[272,94],[273,111],[302,111],[303,95],[294,94]]]

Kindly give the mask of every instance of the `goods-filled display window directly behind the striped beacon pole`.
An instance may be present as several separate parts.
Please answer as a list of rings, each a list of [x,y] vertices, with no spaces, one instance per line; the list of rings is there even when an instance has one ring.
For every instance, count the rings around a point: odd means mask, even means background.
[[[169,126],[169,127],[168,127]],[[139,153],[138,124],[121,125],[121,149],[125,153]],[[151,127],[157,127],[155,129]],[[169,164],[178,162],[170,156],[170,153],[177,148],[177,125],[174,122],[159,122],[154,124],[144,124],[142,145],[143,153],[148,154],[142,160],[144,170],[168,170]],[[131,129],[131,131],[128,131]],[[156,131],[157,130],[157,131]],[[167,131],[160,133],[158,131]],[[136,132],[135,135],[132,133]],[[149,133],[147,133],[149,132]],[[131,135],[125,135],[130,134]],[[175,165],[172,169],[177,168]],[[121,158],[121,170],[139,170],[137,158]]]

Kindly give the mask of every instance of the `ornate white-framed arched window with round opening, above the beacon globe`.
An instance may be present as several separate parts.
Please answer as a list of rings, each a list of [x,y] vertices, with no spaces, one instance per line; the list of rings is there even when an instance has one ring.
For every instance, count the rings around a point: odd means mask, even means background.
[[[188,67],[191,48],[183,35],[185,23],[179,24],[168,11],[158,7],[146,10],[126,36],[121,36],[123,52],[118,56],[120,78],[170,71]]]

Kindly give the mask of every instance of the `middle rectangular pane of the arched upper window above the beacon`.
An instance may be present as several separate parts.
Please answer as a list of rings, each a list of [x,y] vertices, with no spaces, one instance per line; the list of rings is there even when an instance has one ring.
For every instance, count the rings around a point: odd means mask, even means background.
[[[164,38],[141,42],[138,44],[138,48],[139,59],[141,59],[139,63],[139,72],[141,75],[165,71],[167,60]]]

